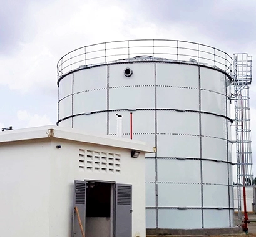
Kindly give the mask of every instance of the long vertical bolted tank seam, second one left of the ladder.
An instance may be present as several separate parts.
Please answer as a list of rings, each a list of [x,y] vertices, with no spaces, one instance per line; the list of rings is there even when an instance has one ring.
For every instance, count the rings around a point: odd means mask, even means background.
[[[198,87],[199,87],[199,155],[200,155],[200,184],[201,184],[201,211],[202,211],[202,228],[203,221],[203,163],[202,163],[202,106],[201,106],[201,68],[198,66]]]

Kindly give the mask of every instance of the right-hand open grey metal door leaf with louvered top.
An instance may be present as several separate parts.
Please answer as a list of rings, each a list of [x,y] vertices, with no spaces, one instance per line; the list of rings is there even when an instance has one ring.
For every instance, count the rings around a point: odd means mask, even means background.
[[[116,184],[115,236],[131,237],[131,185]]]

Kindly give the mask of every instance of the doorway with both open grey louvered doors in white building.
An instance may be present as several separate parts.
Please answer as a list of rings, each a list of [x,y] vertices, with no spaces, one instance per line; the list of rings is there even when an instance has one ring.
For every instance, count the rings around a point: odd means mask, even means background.
[[[72,236],[131,237],[131,190],[128,184],[75,180]]]

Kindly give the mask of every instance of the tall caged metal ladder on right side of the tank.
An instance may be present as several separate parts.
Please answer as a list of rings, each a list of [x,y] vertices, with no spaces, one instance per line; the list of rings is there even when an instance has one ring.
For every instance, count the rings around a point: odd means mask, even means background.
[[[245,186],[253,185],[252,174],[252,141],[250,130],[250,96],[252,83],[252,56],[240,53],[233,56],[232,84],[234,93],[231,99],[235,102],[235,143],[237,157],[237,198],[238,218],[241,220],[242,188],[245,221],[248,219],[246,209]]]

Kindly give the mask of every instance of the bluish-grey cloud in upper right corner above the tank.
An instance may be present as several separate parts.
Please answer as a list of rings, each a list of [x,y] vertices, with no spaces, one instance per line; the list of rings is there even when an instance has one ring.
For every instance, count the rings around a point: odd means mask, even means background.
[[[180,25],[180,32],[205,35],[209,39],[239,46],[256,36],[253,21],[256,2],[245,0],[141,0],[141,16],[158,26],[172,29]],[[246,16],[246,17],[245,17]],[[192,29],[192,32],[189,30]],[[186,33],[186,31],[188,32]],[[207,42],[204,42],[207,44]]]

